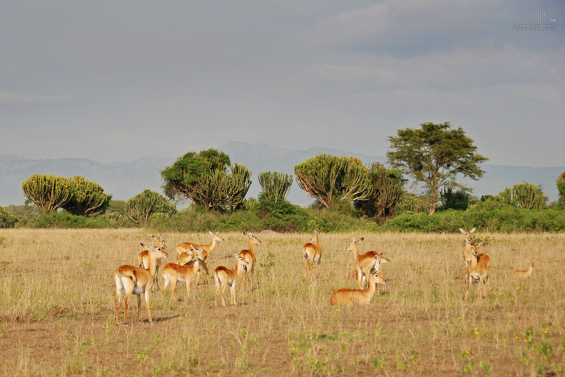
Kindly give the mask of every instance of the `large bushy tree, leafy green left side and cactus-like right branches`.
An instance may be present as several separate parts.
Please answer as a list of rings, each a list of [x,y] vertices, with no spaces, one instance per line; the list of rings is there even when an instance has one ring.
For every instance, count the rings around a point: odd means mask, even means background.
[[[229,156],[213,148],[188,152],[161,171],[163,190],[171,199],[190,199],[207,211],[234,211],[251,186],[251,172],[244,165],[229,164]]]

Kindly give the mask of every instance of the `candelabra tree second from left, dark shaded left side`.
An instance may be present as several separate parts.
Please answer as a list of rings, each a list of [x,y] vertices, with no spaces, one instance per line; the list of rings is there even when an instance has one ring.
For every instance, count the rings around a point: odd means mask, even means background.
[[[105,194],[102,186],[84,179],[81,175],[69,178],[68,182],[71,198],[62,205],[67,212],[89,217],[103,215],[106,212],[112,195]]]

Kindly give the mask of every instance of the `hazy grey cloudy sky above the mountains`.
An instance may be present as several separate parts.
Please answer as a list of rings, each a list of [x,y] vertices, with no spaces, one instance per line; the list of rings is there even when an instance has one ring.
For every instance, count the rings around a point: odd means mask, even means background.
[[[512,31],[519,7],[557,31]],[[115,162],[241,141],[383,156],[398,128],[449,121],[491,164],[562,166],[564,9],[6,0],[0,154]]]

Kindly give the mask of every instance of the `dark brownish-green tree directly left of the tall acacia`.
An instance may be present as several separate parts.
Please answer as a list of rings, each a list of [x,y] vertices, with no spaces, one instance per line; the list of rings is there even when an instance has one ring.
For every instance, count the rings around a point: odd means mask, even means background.
[[[373,188],[371,195],[366,200],[356,200],[355,207],[359,208],[361,215],[381,220],[389,219],[394,216],[406,180],[398,170],[386,169],[379,162],[371,164],[368,174]]]

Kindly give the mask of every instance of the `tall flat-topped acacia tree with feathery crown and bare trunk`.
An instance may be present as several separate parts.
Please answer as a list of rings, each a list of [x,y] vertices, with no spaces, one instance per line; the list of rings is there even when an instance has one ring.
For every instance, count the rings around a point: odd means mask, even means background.
[[[488,158],[476,153],[477,147],[463,128],[451,128],[449,122],[422,123],[421,128],[398,130],[389,136],[386,152],[390,166],[411,175],[421,183],[429,199],[429,215],[436,211],[441,186],[457,187],[470,192],[455,181],[457,174],[477,180],[484,170],[479,164]]]

